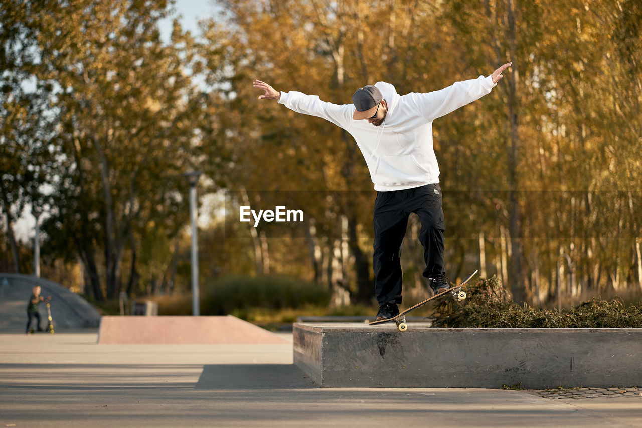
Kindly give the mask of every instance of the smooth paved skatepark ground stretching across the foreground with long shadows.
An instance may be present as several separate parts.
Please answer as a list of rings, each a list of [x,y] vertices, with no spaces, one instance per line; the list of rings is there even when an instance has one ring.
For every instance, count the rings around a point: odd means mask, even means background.
[[[589,389],[590,399],[566,390],[322,389],[292,365],[291,343],[96,339],[86,331],[0,334],[0,427],[642,425],[642,397],[628,389]]]

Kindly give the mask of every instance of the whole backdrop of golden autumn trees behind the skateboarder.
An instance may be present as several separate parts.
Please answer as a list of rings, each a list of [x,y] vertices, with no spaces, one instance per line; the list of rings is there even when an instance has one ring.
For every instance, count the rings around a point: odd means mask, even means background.
[[[333,304],[372,297],[374,191],[349,135],[259,101],[252,80],[349,103],[513,66],[433,126],[451,280],[496,274],[519,303],[642,284],[642,6],[620,0],[220,0],[198,34],[162,1],[0,2],[3,263],[47,213],[43,254],[82,260],[96,298],[187,289],[182,174],[199,170],[203,279],[281,274]],[[214,196],[212,196],[214,195]],[[241,204],[303,210],[241,224]],[[225,208],[225,210],[221,210]],[[422,287],[412,218],[404,286]],[[421,294],[421,292],[417,292]]]

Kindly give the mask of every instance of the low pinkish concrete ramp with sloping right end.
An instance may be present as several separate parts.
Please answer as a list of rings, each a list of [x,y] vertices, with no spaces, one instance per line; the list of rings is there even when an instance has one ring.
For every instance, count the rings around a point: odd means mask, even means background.
[[[228,316],[104,316],[98,344],[284,344],[279,335]]]

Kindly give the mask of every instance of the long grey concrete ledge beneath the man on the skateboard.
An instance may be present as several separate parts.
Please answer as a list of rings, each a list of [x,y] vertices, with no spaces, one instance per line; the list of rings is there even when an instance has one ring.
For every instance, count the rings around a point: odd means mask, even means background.
[[[293,338],[294,364],[326,387],[642,385],[642,328],[295,323]]]

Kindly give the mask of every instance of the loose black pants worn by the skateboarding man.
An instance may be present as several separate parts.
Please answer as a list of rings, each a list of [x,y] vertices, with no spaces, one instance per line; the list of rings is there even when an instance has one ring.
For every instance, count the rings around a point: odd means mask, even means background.
[[[374,292],[379,305],[401,303],[401,244],[408,217],[415,213],[421,221],[419,242],[424,246],[426,269],[431,278],[445,274],[444,211],[439,184],[426,184],[406,190],[377,192],[374,202]]]

